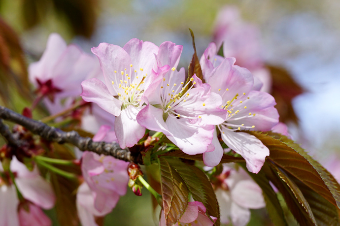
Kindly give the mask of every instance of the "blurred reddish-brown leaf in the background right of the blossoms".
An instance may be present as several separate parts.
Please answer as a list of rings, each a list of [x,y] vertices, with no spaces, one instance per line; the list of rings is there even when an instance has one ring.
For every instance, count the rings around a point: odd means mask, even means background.
[[[293,121],[298,123],[298,118],[292,106],[292,99],[304,92],[303,88],[294,81],[292,75],[284,68],[267,65],[272,75],[272,96],[276,100],[276,109],[280,121]]]

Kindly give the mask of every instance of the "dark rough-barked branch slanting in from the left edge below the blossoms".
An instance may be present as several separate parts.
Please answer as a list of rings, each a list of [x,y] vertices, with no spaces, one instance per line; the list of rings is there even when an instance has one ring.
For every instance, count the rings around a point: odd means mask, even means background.
[[[123,161],[141,163],[141,158],[139,155],[132,155],[128,148],[121,149],[117,143],[106,143],[104,141],[95,142],[90,137],[80,136],[76,131],[65,132],[61,129],[50,127],[42,122],[27,118],[3,106],[0,106],[0,118],[19,124],[48,141],[54,141],[60,144],[70,143],[79,148],[81,151],[91,151],[99,155],[103,154],[107,156],[113,156],[114,158]],[[7,139],[7,141],[12,142],[13,137],[10,138],[8,135],[8,128],[4,129],[0,124],[0,129],[1,134],[6,139],[8,137],[9,140]]]

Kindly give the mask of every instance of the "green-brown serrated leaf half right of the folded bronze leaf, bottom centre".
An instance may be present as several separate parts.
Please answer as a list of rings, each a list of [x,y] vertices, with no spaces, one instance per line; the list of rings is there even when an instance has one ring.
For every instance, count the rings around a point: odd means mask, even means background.
[[[215,192],[205,173],[194,165],[186,164],[179,159],[167,158],[169,164],[183,178],[195,201],[200,201],[206,207],[209,216],[216,217],[216,226],[220,224],[220,212]]]

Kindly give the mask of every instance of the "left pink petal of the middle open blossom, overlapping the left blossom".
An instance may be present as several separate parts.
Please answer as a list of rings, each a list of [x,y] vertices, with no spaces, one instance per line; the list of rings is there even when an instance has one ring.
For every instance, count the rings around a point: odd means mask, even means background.
[[[167,136],[172,135],[164,122],[163,109],[156,108],[151,104],[148,104],[138,113],[137,122],[147,129],[163,132]]]

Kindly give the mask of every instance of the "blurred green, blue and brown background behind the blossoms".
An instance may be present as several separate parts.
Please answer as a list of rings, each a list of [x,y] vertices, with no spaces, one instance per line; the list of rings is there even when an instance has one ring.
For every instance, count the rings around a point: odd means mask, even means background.
[[[0,0],[1,103],[11,102],[21,112],[24,104],[20,102],[27,100],[15,93],[18,89],[28,92],[29,85],[20,80],[27,76],[23,68],[40,58],[51,32],[60,33],[88,53],[101,42],[123,46],[135,37],[156,45],[172,41],[184,46],[180,66],[187,68],[193,54],[188,28],[195,33],[201,57],[212,41],[215,18],[225,5],[237,6],[243,21],[260,31],[262,58],[276,69],[271,69],[276,84],[272,92],[278,95],[277,102],[283,101],[281,121],[339,179],[338,0]],[[8,67],[17,76],[6,74]],[[287,93],[289,98],[280,98]],[[11,101],[7,99],[10,94]],[[128,191],[104,225],[158,225],[150,195],[143,192],[137,197]],[[55,213],[49,214],[53,217]],[[264,224],[259,222],[254,218],[250,224]]]

